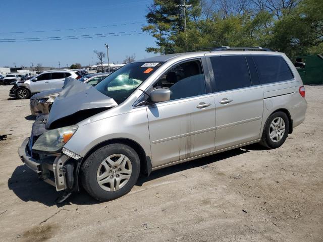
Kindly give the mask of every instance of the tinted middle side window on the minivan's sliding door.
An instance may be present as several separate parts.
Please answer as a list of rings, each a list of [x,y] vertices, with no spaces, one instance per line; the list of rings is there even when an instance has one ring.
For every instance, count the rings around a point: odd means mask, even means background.
[[[216,79],[216,92],[251,86],[248,65],[243,55],[213,56],[210,61]]]

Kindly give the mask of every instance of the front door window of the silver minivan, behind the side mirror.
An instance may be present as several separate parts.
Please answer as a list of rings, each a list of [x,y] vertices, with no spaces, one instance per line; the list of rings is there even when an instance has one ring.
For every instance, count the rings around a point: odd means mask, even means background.
[[[170,100],[205,94],[205,78],[201,62],[195,60],[172,67],[153,85],[153,89],[156,88],[170,89]]]

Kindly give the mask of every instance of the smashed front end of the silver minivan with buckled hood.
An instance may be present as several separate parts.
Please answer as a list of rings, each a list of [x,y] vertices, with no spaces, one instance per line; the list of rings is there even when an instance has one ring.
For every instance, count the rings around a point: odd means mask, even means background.
[[[77,123],[117,105],[92,86],[72,80],[53,102],[49,114],[36,117],[30,137],[18,149],[21,160],[57,191],[78,191],[82,157],[64,145],[77,132]]]

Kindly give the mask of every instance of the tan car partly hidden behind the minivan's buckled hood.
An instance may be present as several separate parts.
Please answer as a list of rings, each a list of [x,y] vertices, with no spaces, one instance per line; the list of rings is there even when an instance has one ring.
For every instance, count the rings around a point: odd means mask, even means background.
[[[110,73],[90,74],[79,79],[79,81],[95,86],[104,78],[109,76]],[[30,98],[30,111],[32,115],[39,113],[48,114],[52,103],[55,98],[60,94],[62,88],[52,89],[33,95]]]

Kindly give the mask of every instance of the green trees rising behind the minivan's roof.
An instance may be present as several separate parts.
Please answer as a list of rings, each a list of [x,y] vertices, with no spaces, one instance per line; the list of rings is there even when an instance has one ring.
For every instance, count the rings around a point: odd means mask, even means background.
[[[142,30],[156,39],[147,52],[262,46],[290,58],[323,53],[322,0],[154,0],[146,21]]]

